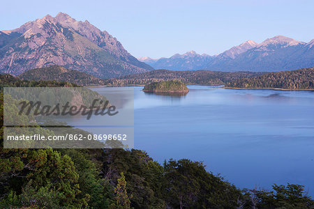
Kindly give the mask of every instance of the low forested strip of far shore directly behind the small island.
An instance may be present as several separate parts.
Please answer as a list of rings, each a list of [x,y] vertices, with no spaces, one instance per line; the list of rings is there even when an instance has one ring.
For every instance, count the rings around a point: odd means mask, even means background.
[[[210,70],[152,70],[133,75],[125,75],[117,79],[105,80],[107,85],[126,86],[126,85],[145,85],[152,82],[161,82],[177,79],[184,84],[200,85],[224,85],[234,79],[255,77],[264,72],[219,72]]]

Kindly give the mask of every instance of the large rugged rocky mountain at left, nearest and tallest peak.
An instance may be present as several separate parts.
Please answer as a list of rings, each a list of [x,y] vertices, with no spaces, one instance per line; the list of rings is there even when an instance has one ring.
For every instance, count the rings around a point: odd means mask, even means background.
[[[0,32],[0,72],[19,75],[61,65],[100,78],[153,70],[130,55],[107,31],[59,13]]]

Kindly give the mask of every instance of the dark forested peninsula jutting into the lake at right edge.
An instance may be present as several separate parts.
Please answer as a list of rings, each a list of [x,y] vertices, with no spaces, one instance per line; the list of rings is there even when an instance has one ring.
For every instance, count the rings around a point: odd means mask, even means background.
[[[270,72],[252,78],[241,78],[227,82],[227,88],[283,88],[314,89],[314,68]]]

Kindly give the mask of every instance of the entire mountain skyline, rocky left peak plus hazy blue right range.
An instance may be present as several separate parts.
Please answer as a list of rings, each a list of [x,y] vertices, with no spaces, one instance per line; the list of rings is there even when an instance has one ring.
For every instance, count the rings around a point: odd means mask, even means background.
[[[100,79],[154,69],[273,72],[313,67],[313,46],[314,40],[306,43],[275,36],[260,44],[248,40],[215,56],[190,51],[170,58],[136,59],[107,31],[59,13],[0,31],[0,73],[20,75],[51,65]]]

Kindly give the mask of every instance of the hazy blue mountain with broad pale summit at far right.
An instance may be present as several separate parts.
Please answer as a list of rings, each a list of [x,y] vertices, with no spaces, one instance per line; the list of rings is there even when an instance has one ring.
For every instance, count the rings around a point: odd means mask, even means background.
[[[314,66],[314,50],[300,42],[285,36],[275,36],[248,49],[229,61],[209,63],[206,69],[211,70],[251,70],[281,71]]]

